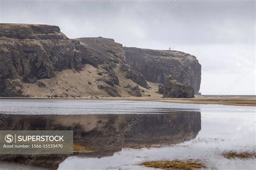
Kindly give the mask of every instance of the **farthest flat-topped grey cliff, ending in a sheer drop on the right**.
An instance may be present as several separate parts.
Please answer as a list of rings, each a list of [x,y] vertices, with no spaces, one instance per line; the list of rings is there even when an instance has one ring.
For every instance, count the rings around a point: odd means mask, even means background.
[[[184,52],[123,47],[127,64],[140,72],[147,81],[164,83],[171,75],[180,83],[190,84],[198,94],[201,83],[201,65],[196,57]]]

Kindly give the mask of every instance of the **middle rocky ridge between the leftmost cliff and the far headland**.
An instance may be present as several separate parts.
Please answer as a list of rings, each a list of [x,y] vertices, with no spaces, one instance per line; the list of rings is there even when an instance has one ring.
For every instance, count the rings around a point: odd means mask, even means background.
[[[134,71],[126,64],[123,45],[114,42],[110,38],[77,38],[86,46],[84,51],[88,56],[93,56],[99,60],[100,67],[109,72],[114,84],[119,84],[119,79],[114,72],[116,67],[121,71],[127,72],[125,78],[133,80],[140,86],[147,88],[147,81],[137,71]],[[83,64],[83,62],[82,62]]]

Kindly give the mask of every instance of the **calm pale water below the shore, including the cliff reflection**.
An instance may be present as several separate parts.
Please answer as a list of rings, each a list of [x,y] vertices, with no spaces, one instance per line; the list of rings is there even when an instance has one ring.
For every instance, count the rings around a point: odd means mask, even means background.
[[[24,163],[29,155],[1,155],[0,166],[150,169],[137,164],[199,159],[208,168],[254,169],[255,159],[230,160],[221,153],[254,151],[255,108],[153,101],[4,99],[0,100],[0,113],[5,115],[0,130],[73,130],[75,143],[89,151],[39,155],[30,166]],[[9,162],[4,161],[7,159]]]

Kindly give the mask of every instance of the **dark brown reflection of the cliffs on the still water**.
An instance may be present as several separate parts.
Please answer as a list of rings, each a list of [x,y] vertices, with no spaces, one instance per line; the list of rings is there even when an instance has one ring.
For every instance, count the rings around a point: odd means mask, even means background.
[[[125,147],[178,144],[201,130],[200,112],[111,115],[9,115],[0,130],[73,130],[74,143],[86,152],[79,157],[105,157]],[[89,149],[89,150],[88,150]],[[31,165],[57,168],[69,155],[37,155]],[[31,155],[1,155],[0,159],[26,164]]]

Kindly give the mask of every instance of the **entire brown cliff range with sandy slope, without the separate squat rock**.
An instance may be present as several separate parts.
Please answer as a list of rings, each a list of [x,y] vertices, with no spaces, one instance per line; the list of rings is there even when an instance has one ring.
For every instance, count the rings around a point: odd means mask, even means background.
[[[197,93],[200,69],[182,52],[127,48],[102,37],[69,39],[52,25],[0,24],[2,97],[161,97],[156,83],[170,73]]]

